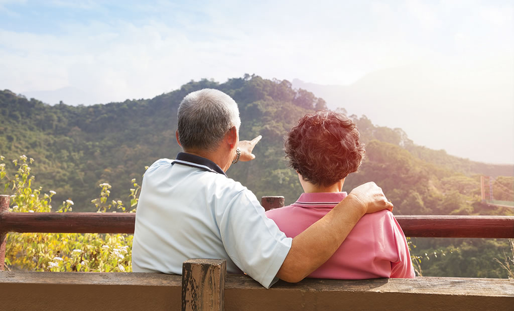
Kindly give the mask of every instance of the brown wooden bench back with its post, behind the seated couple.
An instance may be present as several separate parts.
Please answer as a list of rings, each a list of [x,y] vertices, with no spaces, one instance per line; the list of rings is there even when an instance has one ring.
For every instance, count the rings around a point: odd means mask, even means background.
[[[2,310],[512,310],[514,281],[432,278],[279,281],[225,278],[219,260],[191,273],[2,272]],[[207,265],[207,267],[205,267]],[[204,266],[204,267],[203,267]],[[219,268],[219,269],[218,269]],[[203,281],[202,281],[203,280]],[[221,286],[221,284],[223,284]],[[186,284],[186,286],[184,286]]]

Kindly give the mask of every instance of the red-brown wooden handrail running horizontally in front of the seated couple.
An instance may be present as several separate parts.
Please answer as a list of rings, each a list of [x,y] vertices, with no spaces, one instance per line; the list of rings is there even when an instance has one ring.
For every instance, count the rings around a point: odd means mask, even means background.
[[[267,205],[266,201],[272,199],[263,199],[263,204]],[[396,219],[405,235],[411,237],[514,238],[514,216],[398,215]],[[134,213],[0,211],[0,232],[134,233],[135,221]]]

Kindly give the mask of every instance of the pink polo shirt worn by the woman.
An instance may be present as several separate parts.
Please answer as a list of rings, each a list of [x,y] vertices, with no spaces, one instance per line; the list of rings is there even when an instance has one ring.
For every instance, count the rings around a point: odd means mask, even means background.
[[[317,222],[346,197],[346,192],[303,193],[295,204],[269,210],[288,237],[295,237]],[[309,278],[374,279],[414,278],[405,234],[388,210],[365,214],[338,250]]]

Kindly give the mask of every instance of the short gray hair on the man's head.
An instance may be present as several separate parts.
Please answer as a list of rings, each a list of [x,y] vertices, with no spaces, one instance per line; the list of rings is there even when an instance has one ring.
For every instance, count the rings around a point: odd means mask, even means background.
[[[241,119],[236,102],[217,89],[189,93],[178,106],[178,140],[183,149],[216,149]]]

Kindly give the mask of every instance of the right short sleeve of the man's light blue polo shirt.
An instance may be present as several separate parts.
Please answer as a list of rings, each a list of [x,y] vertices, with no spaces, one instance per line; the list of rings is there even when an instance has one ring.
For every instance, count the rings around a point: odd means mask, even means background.
[[[264,214],[249,190],[238,193],[217,219],[223,245],[230,259],[255,281],[274,284],[292,239]]]

